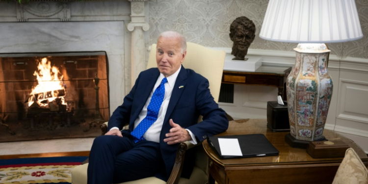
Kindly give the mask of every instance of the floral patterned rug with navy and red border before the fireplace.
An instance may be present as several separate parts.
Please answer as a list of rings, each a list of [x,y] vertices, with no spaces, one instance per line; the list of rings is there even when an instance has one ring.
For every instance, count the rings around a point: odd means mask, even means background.
[[[70,184],[72,169],[87,157],[0,160],[0,184]]]

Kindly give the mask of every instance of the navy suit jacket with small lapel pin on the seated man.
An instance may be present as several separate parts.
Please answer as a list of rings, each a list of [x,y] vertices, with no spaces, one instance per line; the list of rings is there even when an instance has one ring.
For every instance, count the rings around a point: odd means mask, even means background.
[[[151,68],[139,74],[131,92],[124,98],[123,105],[120,105],[110,117],[108,130],[112,127],[121,129],[125,124],[129,124],[129,131],[133,131],[134,121],[146,104],[159,74],[158,68]],[[179,88],[179,86],[184,87]],[[171,94],[159,136],[161,155],[166,173],[158,174],[158,178],[167,181],[174,166],[179,146],[179,144],[168,145],[163,141],[166,138],[165,134],[172,128],[169,124],[170,119],[173,119],[174,123],[179,124],[181,127],[193,132],[197,141],[203,141],[208,136],[227,130],[229,122],[225,111],[218,107],[208,87],[209,82],[206,78],[193,70],[184,69],[182,66]],[[203,116],[203,121],[197,123],[200,115]],[[190,169],[192,170],[193,168]],[[191,170],[188,173],[189,176]]]

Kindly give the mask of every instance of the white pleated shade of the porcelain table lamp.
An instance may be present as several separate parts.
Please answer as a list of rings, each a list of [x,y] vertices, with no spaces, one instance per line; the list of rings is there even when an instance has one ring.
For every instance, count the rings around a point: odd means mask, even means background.
[[[363,37],[354,0],[269,0],[260,37],[289,43],[334,43]]]

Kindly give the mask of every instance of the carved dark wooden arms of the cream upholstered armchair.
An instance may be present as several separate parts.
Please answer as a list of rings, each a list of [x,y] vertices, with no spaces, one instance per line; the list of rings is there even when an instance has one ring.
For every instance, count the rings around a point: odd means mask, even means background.
[[[102,135],[105,135],[107,132],[107,122],[100,125],[100,129]],[[180,176],[182,175],[183,165],[184,165],[184,158],[186,150],[193,148],[197,145],[194,145],[188,141],[181,143],[178,147],[178,151],[176,152],[176,158],[173,170],[171,171],[170,177],[167,180],[167,184],[178,184]]]

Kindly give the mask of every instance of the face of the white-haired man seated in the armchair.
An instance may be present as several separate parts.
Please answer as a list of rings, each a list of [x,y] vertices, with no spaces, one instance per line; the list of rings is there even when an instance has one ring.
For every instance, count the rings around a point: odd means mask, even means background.
[[[178,38],[161,37],[157,41],[157,68],[165,77],[174,74],[184,61],[186,51],[181,53],[181,43]]]

